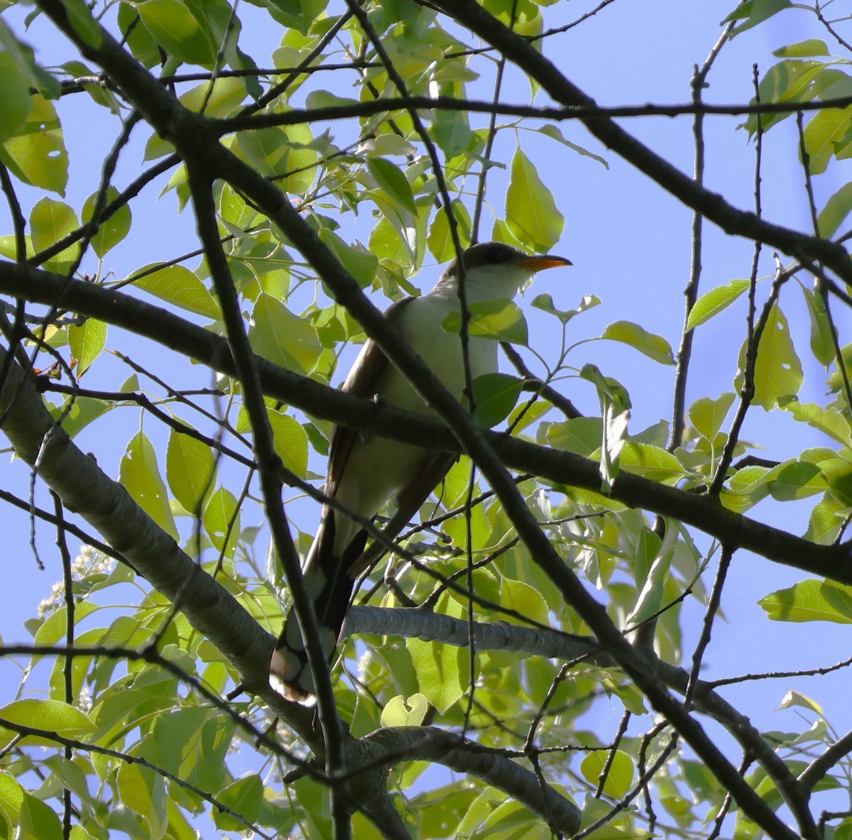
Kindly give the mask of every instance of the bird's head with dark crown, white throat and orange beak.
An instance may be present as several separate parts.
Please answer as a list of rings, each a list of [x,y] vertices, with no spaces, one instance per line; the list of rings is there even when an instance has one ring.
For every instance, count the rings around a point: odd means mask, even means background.
[[[515,245],[504,242],[471,245],[463,251],[462,258],[464,291],[470,300],[511,299],[527,288],[536,272],[571,265],[564,256],[530,256]],[[453,260],[440,275],[438,286],[458,289],[460,275],[458,260]]]

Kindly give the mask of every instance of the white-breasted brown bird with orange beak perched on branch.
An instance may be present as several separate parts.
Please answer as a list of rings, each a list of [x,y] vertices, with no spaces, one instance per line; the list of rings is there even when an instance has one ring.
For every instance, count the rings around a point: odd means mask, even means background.
[[[394,302],[385,318],[440,379],[462,400],[465,372],[461,338],[442,329],[448,315],[460,313],[459,284],[469,306],[511,300],[523,291],[533,274],[545,268],[570,266],[562,256],[531,256],[514,245],[482,242],[471,245],[450,262],[427,295]],[[470,336],[471,381],[498,371],[497,342]],[[433,415],[434,412],[392,365],[382,349],[367,339],[348,372],[343,391],[389,406]],[[370,521],[393,498],[397,511],[384,528],[395,538],[444,479],[456,456],[408,443],[363,434],[337,425],[331,434],[325,496],[343,509]],[[386,549],[374,542],[366,547],[367,532],[358,521],[325,504],[314,542],[302,567],[304,583],[314,604],[320,640],[330,664],[352,598],[355,578],[381,559]],[[270,682],[289,699],[314,694],[314,679],[302,642],[296,613],[290,609],[270,663]]]

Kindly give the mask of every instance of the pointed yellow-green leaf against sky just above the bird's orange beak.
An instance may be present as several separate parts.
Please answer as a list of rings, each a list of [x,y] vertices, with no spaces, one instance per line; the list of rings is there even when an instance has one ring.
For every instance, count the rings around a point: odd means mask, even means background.
[[[533,162],[519,147],[512,158],[506,191],[506,224],[516,239],[533,250],[547,251],[556,245],[565,218]]]

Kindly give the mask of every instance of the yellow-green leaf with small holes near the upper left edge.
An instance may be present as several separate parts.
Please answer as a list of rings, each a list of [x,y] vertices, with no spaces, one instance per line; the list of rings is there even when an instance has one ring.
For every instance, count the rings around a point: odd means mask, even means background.
[[[0,159],[24,183],[65,194],[68,152],[52,102],[40,94],[32,96],[26,123],[3,143]]]

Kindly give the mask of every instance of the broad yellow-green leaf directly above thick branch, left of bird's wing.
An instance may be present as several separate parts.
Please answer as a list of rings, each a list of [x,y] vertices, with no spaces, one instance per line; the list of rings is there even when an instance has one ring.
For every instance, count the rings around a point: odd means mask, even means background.
[[[302,374],[314,370],[322,353],[314,326],[267,294],[257,296],[251,311],[249,341],[256,354]]]

